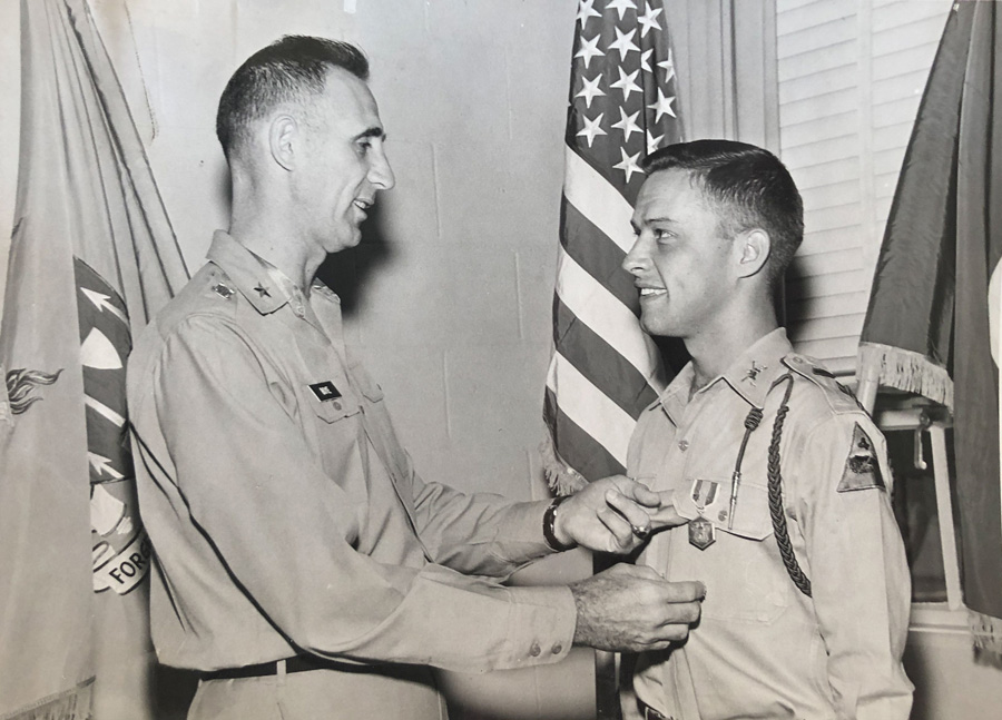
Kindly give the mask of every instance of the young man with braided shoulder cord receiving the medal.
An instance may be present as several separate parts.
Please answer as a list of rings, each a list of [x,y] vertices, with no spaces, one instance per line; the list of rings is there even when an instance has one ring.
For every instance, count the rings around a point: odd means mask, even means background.
[[[774,309],[803,236],[796,186],[766,150],[724,140],[664,148],[646,170],[623,267],[645,329],[692,361],[628,456],[689,523],[638,562],[707,598],[684,647],[637,658],[639,711],[905,720],[910,581],[884,438]]]

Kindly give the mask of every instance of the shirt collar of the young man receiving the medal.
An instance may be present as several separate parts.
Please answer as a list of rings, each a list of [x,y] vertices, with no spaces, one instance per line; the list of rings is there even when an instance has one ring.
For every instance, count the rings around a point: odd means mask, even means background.
[[[777,327],[768,335],[758,338],[741,353],[723,375],[696,392],[705,393],[718,383],[726,383],[747,403],[755,407],[762,407],[773,383],[786,372],[782,359],[792,352],[793,346],[786,338],[786,331]],[[658,398],[658,404],[676,425],[689,404],[695,378],[696,371],[690,362],[675,376]]]

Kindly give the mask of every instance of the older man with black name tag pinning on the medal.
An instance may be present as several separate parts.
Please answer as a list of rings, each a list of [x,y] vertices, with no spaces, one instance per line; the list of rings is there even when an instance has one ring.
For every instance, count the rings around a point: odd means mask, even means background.
[[[314,280],[393,186],[366,76],[356,48],[302,37],[237,70],[217,120],[229,231],[130,359],[154,642],[203,673],[190,718],[441,718],[430,665],[668,647],[698,618],[701,586],[650,569],[488,579],[576,543],[628,552],[678,522],[632,481],[512,503],[415,474]]]

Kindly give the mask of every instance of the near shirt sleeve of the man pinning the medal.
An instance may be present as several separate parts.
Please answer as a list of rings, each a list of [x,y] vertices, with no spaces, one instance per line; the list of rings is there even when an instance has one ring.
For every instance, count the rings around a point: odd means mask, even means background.
[[[229,320],[184,320],[165,339],[151,379],[190,521],[295,645],[465,671],[567,654],[576,622],[567,588],[503,588],[357,552],[355,511],[364,500],[324,473],[282,402],[287,378]]]

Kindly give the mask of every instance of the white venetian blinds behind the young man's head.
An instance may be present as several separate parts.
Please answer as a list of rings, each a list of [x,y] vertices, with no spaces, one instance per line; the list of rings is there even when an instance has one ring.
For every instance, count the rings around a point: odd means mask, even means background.
[[[787,325],[852,374],[884,225],[951,0],[777,0],[780,157],[804,197]]]

